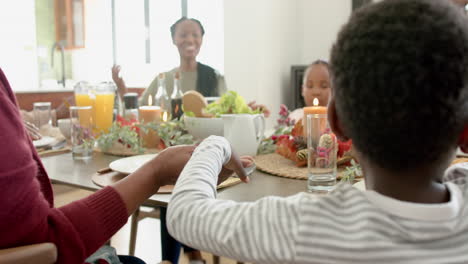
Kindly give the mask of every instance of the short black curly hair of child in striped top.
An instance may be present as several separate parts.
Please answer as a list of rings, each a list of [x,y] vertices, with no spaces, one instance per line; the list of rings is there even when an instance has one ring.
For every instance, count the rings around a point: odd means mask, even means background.
[[[331,52],[337,114],[392,170],[438,161],[468,123],[468,21],[446,0],[386,0],[352,14]]]

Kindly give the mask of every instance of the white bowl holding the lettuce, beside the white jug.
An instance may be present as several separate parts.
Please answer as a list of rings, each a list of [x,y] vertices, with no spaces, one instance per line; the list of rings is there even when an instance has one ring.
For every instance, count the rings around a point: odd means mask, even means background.
[[[196,139],[205,139],[211,135],[224,136],[224,123],[222,118],[184,117],[185,127]]]

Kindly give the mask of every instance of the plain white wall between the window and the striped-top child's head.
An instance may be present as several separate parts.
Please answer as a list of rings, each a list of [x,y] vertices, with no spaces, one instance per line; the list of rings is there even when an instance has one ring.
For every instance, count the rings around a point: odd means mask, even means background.
[[[351,0],[225,0],[225,76],[228,89],[272,112],[292,100],[290,67],[327,59],[351,12]]]

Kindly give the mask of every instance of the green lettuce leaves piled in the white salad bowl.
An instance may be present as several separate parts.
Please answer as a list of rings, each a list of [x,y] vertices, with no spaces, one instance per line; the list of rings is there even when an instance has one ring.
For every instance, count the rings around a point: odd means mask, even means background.
[[[206,106],[205,111],[216,117],[223,114],[260,114],[260,109],[252,110],[244,98],[234,91],[228,91],[221,98]]]

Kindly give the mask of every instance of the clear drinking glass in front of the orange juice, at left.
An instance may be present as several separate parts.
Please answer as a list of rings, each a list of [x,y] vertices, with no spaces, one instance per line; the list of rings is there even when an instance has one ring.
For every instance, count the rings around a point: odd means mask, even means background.
[[[71,144],[74,159],[89,159],[94,148],[93,111],[91,106],[71,106]]]

